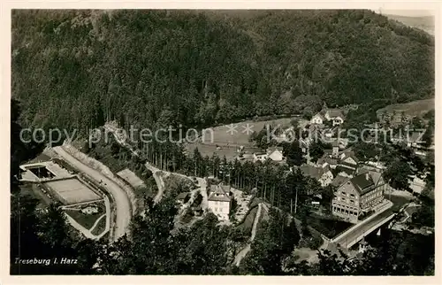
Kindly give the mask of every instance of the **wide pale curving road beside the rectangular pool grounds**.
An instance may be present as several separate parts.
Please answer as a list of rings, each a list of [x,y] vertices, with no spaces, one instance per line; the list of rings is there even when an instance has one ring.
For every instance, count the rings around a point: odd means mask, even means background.
[[[55,147],[53,150],[63,158],[70,165],[74,166],[80,172],[86,173],[90,179],[99,183],[103,181],[103,187],[113,196],[113,200],[116,205],[117,217],[115,221],[115,229],[113,240],[118,240],[119,237],[125,235],[129,232],[130,221],[132,218],[131,204],[129,198],[126,196],[126,192],[124,189],[121,189],[117,183],[111,181],[108,177],[98,172],[97,170],[84,165],[77,158],[72,157],[63,147]],[[107,221],[106,221],[107,225]]]

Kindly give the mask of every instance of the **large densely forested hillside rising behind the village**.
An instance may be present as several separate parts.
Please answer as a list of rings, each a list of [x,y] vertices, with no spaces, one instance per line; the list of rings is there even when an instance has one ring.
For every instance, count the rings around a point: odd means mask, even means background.
[[[183,124],[434,96],[434,38],[370,11],[14,11],[24,127]]]

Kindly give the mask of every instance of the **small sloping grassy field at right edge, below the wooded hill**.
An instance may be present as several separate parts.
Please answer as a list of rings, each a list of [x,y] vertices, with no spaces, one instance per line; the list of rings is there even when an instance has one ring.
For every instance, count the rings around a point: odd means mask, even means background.
[[[396,112],[397,116],[401,116],[401,113],[404,112],[406,115],[410,117],[422,117],[426,112],[433,110],[435,107],[434,98],[417,100],[404,104],[390,104],[385,108],[377,110],[377,117],[381,113],[388,112]]]

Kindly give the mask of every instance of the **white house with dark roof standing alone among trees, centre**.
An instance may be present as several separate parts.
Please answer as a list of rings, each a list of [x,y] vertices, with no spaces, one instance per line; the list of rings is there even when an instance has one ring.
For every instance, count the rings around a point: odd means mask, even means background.
[[[208,202],[210,210],[217,215],[219,220],[229,220],[230,208],[232,206],[230,186],[222,184],[210,185]]]

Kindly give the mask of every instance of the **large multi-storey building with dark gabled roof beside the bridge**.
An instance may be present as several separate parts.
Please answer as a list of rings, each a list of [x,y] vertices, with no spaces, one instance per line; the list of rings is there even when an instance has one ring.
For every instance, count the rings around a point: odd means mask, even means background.
[[[384,200],[386,184],[381,173],[367,171],[347,180],[335,191],[332,213],[356,223]]]

